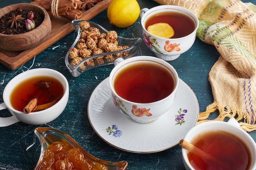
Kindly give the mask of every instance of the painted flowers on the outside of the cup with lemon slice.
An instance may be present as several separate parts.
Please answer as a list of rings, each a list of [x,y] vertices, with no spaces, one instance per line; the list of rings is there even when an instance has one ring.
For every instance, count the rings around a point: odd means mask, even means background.
[[[146,43],[146,46],[150,50],[154,49],[158,53],[163,54],[162,51],[159,50],[160,46],[159,46],[157,40],[155,38],[151,38],[151,35],[143,34],[143,40]],[[180,46],[180,44],[177,44],[177,43],[170,44],[170,41],[166,41],[164,44],[164,50],[166,52],[180,51],[179,46]]]

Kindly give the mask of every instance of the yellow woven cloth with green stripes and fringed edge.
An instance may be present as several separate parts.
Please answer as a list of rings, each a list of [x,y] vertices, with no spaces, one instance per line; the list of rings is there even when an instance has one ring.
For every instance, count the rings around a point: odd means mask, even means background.
[[[218,109],[215,120],[235,117],[244,130],[256,130],[256,6],[240,0],[155,1],[195,13],[197,37],[221,55],[209,73],[214,101],[200,113],[198,123]]]

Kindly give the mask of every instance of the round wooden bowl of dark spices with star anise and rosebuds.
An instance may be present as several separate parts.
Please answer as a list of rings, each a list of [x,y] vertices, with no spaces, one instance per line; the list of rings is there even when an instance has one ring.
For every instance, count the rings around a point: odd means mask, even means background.
[[[52,29],[47,11],[36,4],[18,3],[0,9],[0,48],[24,51],[46,40]]]

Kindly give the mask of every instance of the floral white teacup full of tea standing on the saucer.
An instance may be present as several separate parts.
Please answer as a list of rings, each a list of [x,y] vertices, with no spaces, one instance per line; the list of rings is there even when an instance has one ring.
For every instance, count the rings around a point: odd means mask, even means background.
[[[168,62],[137,56],[116,59],[109,84],[121,113],[138,123],[149,123],[171,108],[179,77]]]

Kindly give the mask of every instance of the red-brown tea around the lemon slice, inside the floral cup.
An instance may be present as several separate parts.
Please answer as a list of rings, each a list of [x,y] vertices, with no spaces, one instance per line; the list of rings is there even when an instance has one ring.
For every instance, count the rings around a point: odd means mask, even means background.
[[[146,20],[145,28],[148,30],[148,26],[152,26],[157,23],[167,23],[173,28],[174,35],[171,38],[181,38],[189,35],[195,30],[195,22],[189,16],[178,12],[157,13]],[[154,29],[155,31],[157,31],[157,29],[165,31],[165,29],[160,26]]]

